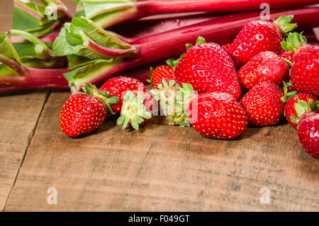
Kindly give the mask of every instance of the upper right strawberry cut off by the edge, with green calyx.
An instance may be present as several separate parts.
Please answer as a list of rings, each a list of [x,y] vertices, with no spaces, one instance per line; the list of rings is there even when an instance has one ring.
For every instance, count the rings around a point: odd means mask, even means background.
[[[307,45],[306,38],[298,33],[289,33],[281,46],[295,54],[291,68],[294,89],[300,93],[319,96],[319,46]]]

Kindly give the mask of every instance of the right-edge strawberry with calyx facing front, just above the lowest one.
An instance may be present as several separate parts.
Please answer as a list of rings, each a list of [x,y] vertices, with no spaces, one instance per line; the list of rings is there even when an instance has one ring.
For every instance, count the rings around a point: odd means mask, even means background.
[[[298,122],[304,113],[318,112],[319,101],[309,94],[296,94],[286,103],[284,115],[290,125],[297,130]]]

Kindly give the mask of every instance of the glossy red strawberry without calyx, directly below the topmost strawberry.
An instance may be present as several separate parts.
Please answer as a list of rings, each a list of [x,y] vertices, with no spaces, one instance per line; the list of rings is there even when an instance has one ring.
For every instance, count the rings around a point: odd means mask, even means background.
[[[289,65],[274,52],[259,52],[237,72],[242,89],[252,89],[260,81],[282,84],[289,79]]]

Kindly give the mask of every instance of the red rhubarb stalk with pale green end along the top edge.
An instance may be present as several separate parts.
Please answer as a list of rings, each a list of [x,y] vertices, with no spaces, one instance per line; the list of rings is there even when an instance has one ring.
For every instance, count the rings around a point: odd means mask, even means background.
[[[183,12],[230,12],[259,10],[264,0],[211,0],[211,1],[130,1],[130,0],[79,0],[76,16],[85,16],[102,28],[108,28],[123,21],[158,14]],[[270,9],[318,4],[316,0],[268,0]]]

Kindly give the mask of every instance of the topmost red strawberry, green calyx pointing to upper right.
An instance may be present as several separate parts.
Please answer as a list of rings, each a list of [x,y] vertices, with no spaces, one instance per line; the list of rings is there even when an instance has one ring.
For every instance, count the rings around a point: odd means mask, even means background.
[[[293,16],[281,16],[276,21],[252,21],[247,23],[230,45],[230,56],[237,68],[245,65],[259,52],[281,52],[282,36],[296,27]]]

